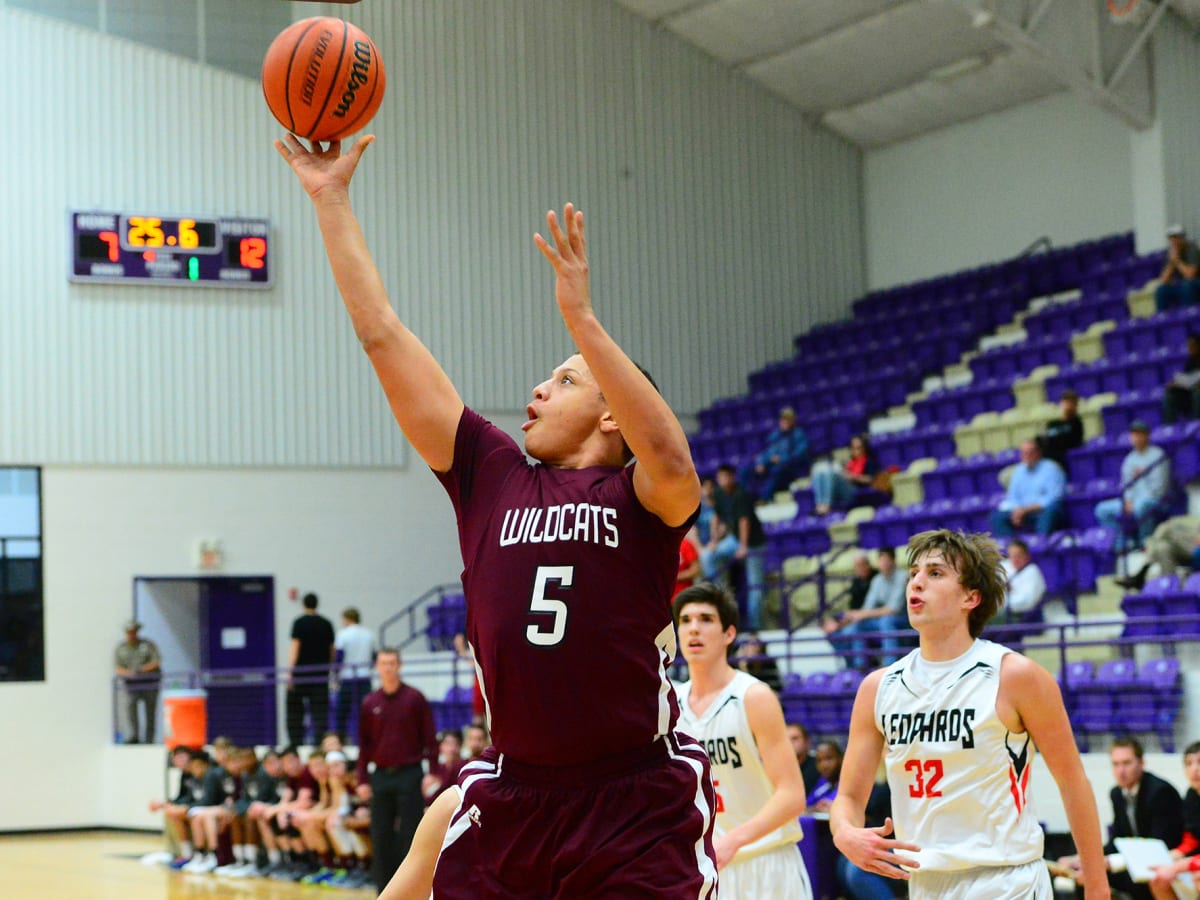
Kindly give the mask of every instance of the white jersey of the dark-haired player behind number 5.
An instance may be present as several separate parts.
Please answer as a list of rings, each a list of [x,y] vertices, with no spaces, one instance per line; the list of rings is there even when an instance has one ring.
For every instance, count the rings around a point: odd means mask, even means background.
[[[738,671],[701,716],[688,706],[691,682],[677,685],[679,731],[703,745],[713,767],[713,787],[716,788],[714,836],[746,822],[775,793],[746,719],[745,696],[755,684],[762,682]],[[800,823],[788,822],[742,847],[733,859],[740,862],[782,844],[794,845],[802,836]]]

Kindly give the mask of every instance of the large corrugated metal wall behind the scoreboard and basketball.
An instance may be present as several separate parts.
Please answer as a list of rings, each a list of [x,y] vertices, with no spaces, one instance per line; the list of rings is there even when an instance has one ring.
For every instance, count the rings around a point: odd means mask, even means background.
[[[683,412],[860,292],[859,154],[616,5],[330,11],[389,70],[356,206],[476,408],[522,407],[570,350],[530,240],[566,199],[601,319]],[[22,11],[0,31],[30,73],[4,89],[0,462],[402,462],[258,85]],[[276,287],[68,284],[70,209],[270,217]]]

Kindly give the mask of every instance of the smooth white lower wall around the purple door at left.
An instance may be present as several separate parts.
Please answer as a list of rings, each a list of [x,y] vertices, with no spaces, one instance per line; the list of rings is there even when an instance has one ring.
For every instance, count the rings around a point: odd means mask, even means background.
[[[354,604],[374,626],[461,569],[450,504],[424,468],[47,468],[43,476],[47,677],[0,685],[10,734],[0,770],[23,773],[5,779],[0,832],[112,821],[98,785],[112,740],[112,654],[133,578],[194,574],[198,536],[222,539],[227,574],[276,577],[284,660],[299,613],[288,586],[316,590],[335,619]]]

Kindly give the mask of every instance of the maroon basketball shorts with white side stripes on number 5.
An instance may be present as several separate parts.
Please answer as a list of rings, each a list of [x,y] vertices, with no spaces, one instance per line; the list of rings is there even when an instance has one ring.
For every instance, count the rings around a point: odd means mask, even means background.
[[[488,748],[458,787],[436,900],[716,896],[713,779],[690,738],[554,768]]]

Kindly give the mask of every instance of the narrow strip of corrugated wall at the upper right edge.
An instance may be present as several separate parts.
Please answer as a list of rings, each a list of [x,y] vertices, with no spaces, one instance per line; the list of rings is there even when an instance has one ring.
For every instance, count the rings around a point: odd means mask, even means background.
[[[1200,46],[1174,14],[1164,17],[1153,41],[1166,218],[1200,234]]]

